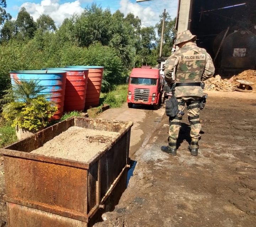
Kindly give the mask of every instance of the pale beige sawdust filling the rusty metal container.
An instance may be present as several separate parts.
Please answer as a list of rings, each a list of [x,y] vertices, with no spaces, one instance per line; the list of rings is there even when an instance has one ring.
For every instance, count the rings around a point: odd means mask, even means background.
[[[89,161],[120,134],[73,126],[31,153],[75,161]]]

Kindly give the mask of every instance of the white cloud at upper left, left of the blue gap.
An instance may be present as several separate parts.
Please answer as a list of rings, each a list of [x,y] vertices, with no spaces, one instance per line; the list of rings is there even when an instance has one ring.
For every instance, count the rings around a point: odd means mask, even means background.
[[[57,25],[61,24],[65,18],[71,17],[74,13],[81,14],[84,11],[79,0],[63,4],[59,4],[59,0],[42,0],[38,4],[25,2],[21,7],[25,7],[34,20],[40,15],[46,14],[52,17]]]

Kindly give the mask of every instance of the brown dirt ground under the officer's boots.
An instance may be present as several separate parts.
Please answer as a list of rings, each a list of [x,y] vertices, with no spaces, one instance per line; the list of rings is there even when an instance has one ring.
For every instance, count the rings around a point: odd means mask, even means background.
[[[137,153],[138,163],[113,212],[94,227],[254,227],[256,223],[256,97],[209,92],[201,112],[199,155],[187,150],[186,115],[177,156],[167,144],[168,119]]]

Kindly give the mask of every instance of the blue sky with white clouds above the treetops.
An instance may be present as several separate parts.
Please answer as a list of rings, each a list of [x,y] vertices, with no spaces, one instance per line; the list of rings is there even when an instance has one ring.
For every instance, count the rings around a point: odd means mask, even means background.
[[[6,11],[16,19],[18,11],[24,6],[34,20],[42,14],[47,14],[58,26],[66,17],[74,13],[80,14],[83,8],[91,5],[92,2],[102,8],[110,8],[112,13],[118,9],[124,15],[132,12],[142,20],[143,26],[150,26],[159,21],[159,15],[165,8],[174,18],[178,0],[152,0],[138,3],[136,0],[6,0]]]

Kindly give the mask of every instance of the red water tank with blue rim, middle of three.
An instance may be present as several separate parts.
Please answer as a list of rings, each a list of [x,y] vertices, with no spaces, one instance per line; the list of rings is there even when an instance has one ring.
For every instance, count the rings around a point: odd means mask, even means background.
[[[48,68],[66,72],[64,112],[83,111],[89,70],[85,68]]]

